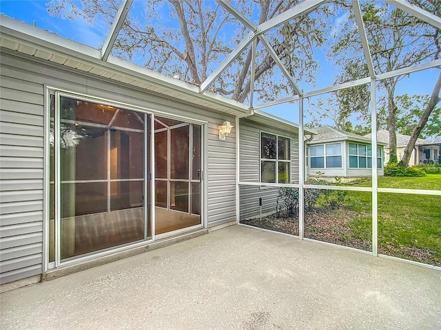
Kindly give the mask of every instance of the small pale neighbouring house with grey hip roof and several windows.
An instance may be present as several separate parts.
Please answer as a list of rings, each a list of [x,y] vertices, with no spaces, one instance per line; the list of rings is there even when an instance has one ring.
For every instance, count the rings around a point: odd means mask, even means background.
[[[378,143],[372,151],[371,139],[330,126],[318,127],[317,134],[307,142],[307,175],[325,178],[357,178],[372,175],[377,166],[378,175],[384,175],[384,144]]]

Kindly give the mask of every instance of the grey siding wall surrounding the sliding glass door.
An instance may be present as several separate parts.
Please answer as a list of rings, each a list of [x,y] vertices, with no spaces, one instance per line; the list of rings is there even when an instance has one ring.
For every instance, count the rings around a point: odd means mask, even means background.
[[[234,117],[10,51],[0,61],[1,283],[43,272],[45,85],[206,121],[207,226],[236,220],[235,130],[218,140]]]

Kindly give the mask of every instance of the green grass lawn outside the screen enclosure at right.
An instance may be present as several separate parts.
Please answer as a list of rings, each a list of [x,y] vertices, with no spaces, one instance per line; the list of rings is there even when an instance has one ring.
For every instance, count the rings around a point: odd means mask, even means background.
[[[361,182],[358,186],[369,186]],[[379,177],[381,188],[441,190],[441,175]],[[371,194],[351,192],[347,206],[371,203]],[[367,239],[371,219],[351,222],[354,235]],[[378,193],[378,248],[382,254],[441,266],[441,196]]]

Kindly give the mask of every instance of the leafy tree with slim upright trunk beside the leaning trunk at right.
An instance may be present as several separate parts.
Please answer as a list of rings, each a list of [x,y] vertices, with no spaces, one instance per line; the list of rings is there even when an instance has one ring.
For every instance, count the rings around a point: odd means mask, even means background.
[[[423,1],[414,2],[418,5]],[[393,8],[391,5],[380,8],[375,1],[360,4],[376,74],[438,58],[439,39],[434,40],[434,38],[438,38],[438,32],[431,25],[398,8]],[[434,7],[433,5],[429,11],[434,12]],[[433,32],[434,30],[435,32]],[[360,36],[352,20],[344,25],[342,33],[338,36],[338,41],[331,47],[329,54],[336,58],[337,63],[342,67],[338,83],[345,83],[369,75],[367,64],[362,60]],[[351,56],[348,57],[347,54],[351,54]],[[380,82],[380,87],[386,96],[391,159],[396,156],[396,113],[398,108],[394,96],[396,85],[403,77],[396,76]],[[338,99],[342,104],[342,111],[351,113],[351,111],[368,109],[366,96],[369,96],[367,85],[340,91]]]

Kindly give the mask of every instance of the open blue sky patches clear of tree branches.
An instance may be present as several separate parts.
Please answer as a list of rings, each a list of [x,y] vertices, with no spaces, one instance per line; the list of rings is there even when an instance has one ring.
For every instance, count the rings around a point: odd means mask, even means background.
[[[95,21],[91,26],[83,19],[70,21],[59,17],[52,17],[48,14],[48,1],[49,0],[1,0],[0,12],[30,25],[34,25],[34,21],[36,21],[38,28],[54,32],[60,36],[94,48],[99,47],[99,45],[103,43],[107,36],[107,32],[110,30],[110,25]],[[136,1],[134,3],[134,8],[136,8]],[[345,15],[341,15],[340,19],[345,19]],[[335,28],[336,27],[334,27],[334,29]],[[314,54],[315,58],[320,63],[320,69],[316,72],[316,88],[328,87],[334,82],[336,69],[333,63],[327,61],[325,52],[326,50],[318,49]],[[396,95],[431,94],[431,89],[435,85],[438,74],[438,69],[430,69],[406,76],[398,83]],[[311,91],[314,89],[305,83],[299,83],[299,85],[305,91]],[[305,102],[305,110],[307,109],[309,109],[309,102]],[[298,104],[296,102],[294,104],[281,104],[276,107],[267,107],[263,110],[292,122],[298,122]],[[310,119],[311,118],[307,116],[305,122],[309,122]],[[354,123],[357,123],[355,116],[351,118],[351,120],[353,120]],[[328,120],[322,122],[322,124],[331,124],[331,122]]]

